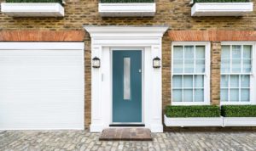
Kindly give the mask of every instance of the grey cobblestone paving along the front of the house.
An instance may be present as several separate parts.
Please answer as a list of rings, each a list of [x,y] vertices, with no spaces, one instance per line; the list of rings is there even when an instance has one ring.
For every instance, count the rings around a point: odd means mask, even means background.
[[[152,142],[98,141],[89,131],[2,131],[0,150],[256,150],[256,132],[154,133]]]

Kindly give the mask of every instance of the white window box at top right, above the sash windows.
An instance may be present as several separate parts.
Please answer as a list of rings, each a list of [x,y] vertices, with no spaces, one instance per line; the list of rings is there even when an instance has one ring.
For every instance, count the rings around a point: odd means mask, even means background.
[[[253,3],[195,3],[192,16],[241,16],[253,12]]]

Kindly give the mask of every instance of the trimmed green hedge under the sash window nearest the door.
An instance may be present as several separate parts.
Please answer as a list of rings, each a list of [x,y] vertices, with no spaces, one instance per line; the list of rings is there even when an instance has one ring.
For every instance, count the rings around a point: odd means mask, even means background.
[[[167,117],[220,117],[220,109],[214,105],[167,106]]]

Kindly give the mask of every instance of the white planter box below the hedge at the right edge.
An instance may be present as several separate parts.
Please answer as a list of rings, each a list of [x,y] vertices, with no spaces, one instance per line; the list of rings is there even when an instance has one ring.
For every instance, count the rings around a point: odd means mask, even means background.
[[[224,117],[224,126],[256,126],[256,117]]]

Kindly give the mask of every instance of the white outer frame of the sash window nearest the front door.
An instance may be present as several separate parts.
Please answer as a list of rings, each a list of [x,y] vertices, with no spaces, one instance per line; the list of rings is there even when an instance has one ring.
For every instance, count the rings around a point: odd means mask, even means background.
[[[211,42],[172,42],[172,73],[171,73],[171,80],[172,76],[176,75],[173,74],[173,48],[174,46],[184,46],[184,45],[203,45],[205,46],[205,74],[204,75],[204,102],[173,102],[171,98],[172,105],[210,105],[210,77],[211,77]],[[183,75],[193,75],[193,74],[183,74]],[[172,82],[171,82],[171,93],[172,93]],[[193,94],[194,96],[194,94]]]

